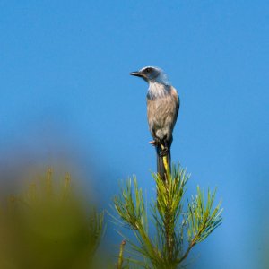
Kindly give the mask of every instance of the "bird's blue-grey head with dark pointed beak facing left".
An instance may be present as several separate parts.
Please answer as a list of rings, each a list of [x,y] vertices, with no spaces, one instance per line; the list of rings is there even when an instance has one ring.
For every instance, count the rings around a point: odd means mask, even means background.
[[[130,74],[139,76],[148,83],[159,82],[161,84],[169,85],[167,75],[159,67],[146,66],[139,71],[135,71]]]

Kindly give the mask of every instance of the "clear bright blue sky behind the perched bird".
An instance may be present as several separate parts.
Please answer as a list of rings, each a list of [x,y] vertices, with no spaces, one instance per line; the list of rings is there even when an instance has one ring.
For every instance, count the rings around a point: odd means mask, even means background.
[[[1,166],[69,156],[82,175],[98,170],[106,202],[133,174],[154,195],[147,85],[129,72],[160,66],[181,99],[172,160],[190,191],[217,186],[223,201],[195,268],[262,268],[268,14],[267,1],[1,1]]]

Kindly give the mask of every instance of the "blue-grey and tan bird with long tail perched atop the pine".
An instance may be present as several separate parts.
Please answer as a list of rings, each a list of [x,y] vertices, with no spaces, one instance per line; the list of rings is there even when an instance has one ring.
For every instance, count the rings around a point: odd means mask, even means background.
[[[178,91],[159,67],[145,66],[130,74],[143,78],[149,85],[146,101],[148,125],[153,138],[150,143],[156,147],[157,172],[166,181],[168,169],[171,169],[170,148],[180,106]]]

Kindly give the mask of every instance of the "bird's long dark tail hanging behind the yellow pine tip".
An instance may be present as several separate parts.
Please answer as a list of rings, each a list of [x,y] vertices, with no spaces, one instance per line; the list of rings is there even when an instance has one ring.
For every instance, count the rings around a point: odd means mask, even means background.
[[[170,159],[171,159],[170,147],[169,147],[168,151],[165,153],[165,155],[162,156],[161,152],[163,152],[163,146],[160,143],[156,147],[156,152],[157,152],[157,172],[160,175],[160,177],[162,178],[162,180],[165,181],[167,171],[168,171],[168,169],[169,170],[171,169],[171,165],[170,165]]]

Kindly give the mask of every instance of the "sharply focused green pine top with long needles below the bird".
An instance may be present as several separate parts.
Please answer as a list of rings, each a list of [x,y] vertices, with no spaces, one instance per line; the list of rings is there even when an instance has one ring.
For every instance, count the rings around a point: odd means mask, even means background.
[[[124,257],[121,245],[117,268],[180,268],[191,249],[221,224],[221,203],[214,206],[216,189],[213,192],[208,189],[204,195],[198,186],[196,195],[188,200],[185,196],[190,176],[179,166],[173,167],[171,173],[168,171],[165,181],[158,174],[152,174],[152,178],[157,195],[150,210],[135,177],[129,178],[114,198],[117,224],[133,230],[136,239],[128,239],[121,233],[130,247]],[[153,236],[152,229],[149,232],[149,219],[155,229]]]

